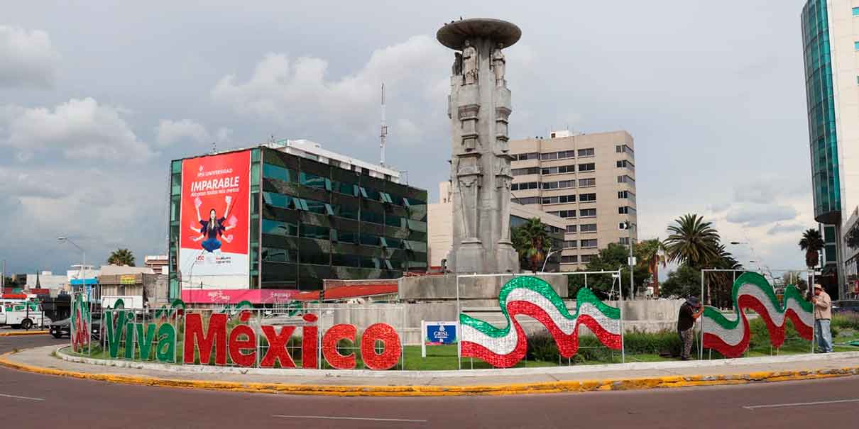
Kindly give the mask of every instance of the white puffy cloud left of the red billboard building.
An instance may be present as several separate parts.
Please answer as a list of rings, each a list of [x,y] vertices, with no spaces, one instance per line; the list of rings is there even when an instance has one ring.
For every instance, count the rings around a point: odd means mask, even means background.
[[[55,106],[0,110],[0,147],[19,160],[59,153],[68,160],[122,160],[140,163],[153,152],[125,122],[125,110],[87,98]]]

